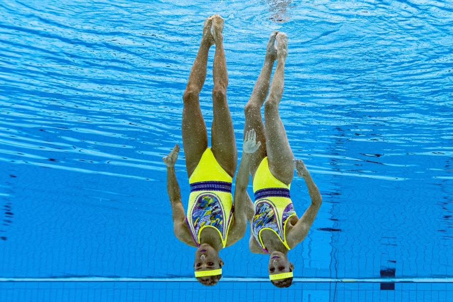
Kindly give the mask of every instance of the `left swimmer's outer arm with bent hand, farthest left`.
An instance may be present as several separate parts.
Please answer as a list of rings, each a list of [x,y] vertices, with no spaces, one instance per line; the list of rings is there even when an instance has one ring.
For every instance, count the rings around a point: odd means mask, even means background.
[[[174,166],[178,159],[178,152],[179,145],[176,144],[173,150],[166,157],[162,158],[165,166],[167,166],[167,193],[171,204],[173,231],[176,238],[182,242],[190,246],[196,246],[186,223],[186,213],[181,201],[181,190],[176,179]]]

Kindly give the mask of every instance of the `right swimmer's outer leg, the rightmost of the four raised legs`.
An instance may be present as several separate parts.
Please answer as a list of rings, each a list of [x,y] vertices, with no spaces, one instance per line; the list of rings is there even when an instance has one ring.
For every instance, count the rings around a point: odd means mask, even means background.
[[[289,184],[294,174],[294,156],[278,111],[283,94],[288,37],[284,33],[278,33],[276,39],[277,67],[272,78],[269,97],[264,104],[266,148],[270,171],[277,179]]]

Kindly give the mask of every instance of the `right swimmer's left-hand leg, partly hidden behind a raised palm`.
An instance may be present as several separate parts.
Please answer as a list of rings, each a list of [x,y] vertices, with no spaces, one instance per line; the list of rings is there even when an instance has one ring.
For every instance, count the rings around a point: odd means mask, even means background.
[[[250,129],[255,129],[257,133],[257,142],[261,142],[259,149],[252,154],[252,160],[250,163],[250,173],[252,178],[258,169],[259,163],[266,156],[266,136],[264,134],[264,125],[261,118],[261,106],[266,99],[267,93],[269,92],[270,75],[272,73],[272,67],[274,61],[277,59],[277,49],[275,48],[275,35],[277,32],[273,32],[266,47],[266,56],[264,57],[264,64],[259,73],[258,80],[253,88],[252,95],[249,101],[245,105],[245,126],[244,126],[244,137]]]

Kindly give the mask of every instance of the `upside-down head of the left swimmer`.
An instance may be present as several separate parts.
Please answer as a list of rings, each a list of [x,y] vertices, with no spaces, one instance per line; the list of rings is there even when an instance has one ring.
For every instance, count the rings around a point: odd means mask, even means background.
[[[219,257],[219,252],[216,251],[209,244],[203,243],[195,251],[195,262],[194,270],[203,271],[203,270],[214,270],[222,268],[224,262]],[[196,279],[203,285],[215,285],[219,282],[222,274],[214,276],[202,276],[197,277]]]

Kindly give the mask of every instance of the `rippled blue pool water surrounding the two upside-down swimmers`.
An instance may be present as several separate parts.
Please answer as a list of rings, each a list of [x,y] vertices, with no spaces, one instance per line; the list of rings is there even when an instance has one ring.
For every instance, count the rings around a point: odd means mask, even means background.
[[[2,0],[0,301],[449,301],[452,12],[434,0]],[[289,254],[289,289],[265,281],[249,230],[221,252],[214,288],[193,282],[193,248],[173,235],[161,159],[182,143],[182,93],[214,13],[239,157],[267,37],[289,37],[280,112],[324,201]],[[301,179],[291,196],[302,214]]]

